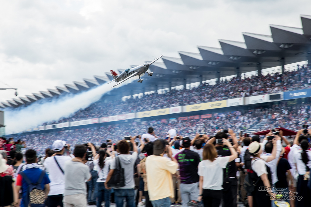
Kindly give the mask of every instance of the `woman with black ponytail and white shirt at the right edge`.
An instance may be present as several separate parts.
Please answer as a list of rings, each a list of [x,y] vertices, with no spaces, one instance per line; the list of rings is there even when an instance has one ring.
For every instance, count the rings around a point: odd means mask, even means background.
[[[308,179],[304,180],[304,178],[309,174],[309,168],[311,167],[311,151],[308,150],[309,148],[309,143],[307,137],[303,139],[300,142],[300,147],[298,147],[298,140],[300,137],[301,140],[301,135],[303,133],[303,129],[299,130],[298,133],[296,134],[295,140],[294,140],[294,157],[296,161],[296,166],[297,166],[297,171],[298,171],[298,181],[297,181],[297,196],[302,196],[302,199],[297,199],[296,200],[296,206],[310,206],[311,203],[311,192],[310,189],[307,187],[308,184]],[[309,134],[310,134],[310,129],[309,129]]]

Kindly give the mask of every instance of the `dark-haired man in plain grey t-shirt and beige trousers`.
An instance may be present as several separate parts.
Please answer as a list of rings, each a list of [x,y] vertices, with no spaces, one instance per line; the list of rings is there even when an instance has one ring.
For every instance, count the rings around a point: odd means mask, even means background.
[[[91,180],[86,163],[86,147],[76,145],[73,151],[75,158],[65,162],[65,191],[63,203],[65,207],[86,207],[86,183]]]

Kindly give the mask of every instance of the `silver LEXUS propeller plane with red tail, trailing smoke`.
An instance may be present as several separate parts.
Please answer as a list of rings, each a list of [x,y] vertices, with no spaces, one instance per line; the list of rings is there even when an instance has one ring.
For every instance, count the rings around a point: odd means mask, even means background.
[[[160,57],[154,59],[151,63],[145,63],[142,65],[138,65],[135,68],[128,68],[126,70],[124,70],[120,75],[118,75],[116,72],[114,72],[114,70],[110,70],[112,77],[114,78],[112,81],[115,81],[117,84],[115,84],[113,87],[119,85],[120,83],[123,83],[124,81],[137,76],[139,77],[139,80],[137,81],[137,83],[142,83],[142,79],[140,79],[140,75],[143,73],[148,73],[148,75],[152,76],[152,72],[147,72],[147,70],[149,69],[150,65],[154,62],[156,62],[157,60],[159,60],[163,55],[161,55]],[[112,81],[110,81],[109,83],[111,83]],[[112,88],[113,88],[112,87]]]

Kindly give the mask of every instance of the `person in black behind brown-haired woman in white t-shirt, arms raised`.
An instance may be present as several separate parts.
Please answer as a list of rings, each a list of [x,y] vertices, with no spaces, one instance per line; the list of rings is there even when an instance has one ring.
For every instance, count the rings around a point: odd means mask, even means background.
[[[230,156],[231,151],[227,145],[224,145],[222,139],[228,139],[228,132],[232,137],[233,147],[238,146],[236,141],[236,137],[231,129],[224,130],[220,129],[215,137],[208,140],[207,143],[211,144],[214,141],[216,142],[215,149],[217,151],[218,156]],[[229,141],[229,139],[228,139]],[[230,142],[230,141],[229,141]],[[227,143],[227,142],[226,142]],[[232,145],[232,144],[231,144]],[[222,190],[222,197],[226,199],[222,199],[223,206],[237,206],[237,191],[238,191],[238,180],[236,178],[236,165],[235,161],[232,160],[227,164],[227,167],[224,169],[223,172],[223,190]]]

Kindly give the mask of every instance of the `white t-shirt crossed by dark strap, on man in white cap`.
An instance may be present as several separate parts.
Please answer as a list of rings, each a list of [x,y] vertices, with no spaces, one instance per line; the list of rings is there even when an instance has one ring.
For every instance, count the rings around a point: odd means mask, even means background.
[[[63,171],[65,171],[65,162],[72,158],[64,155],[55,155],[44,160],[43,165],[49,171],[49,179],[51,181],[48,196],[63,194],[65,191],[65,175],[59,169],[55,159]]]

